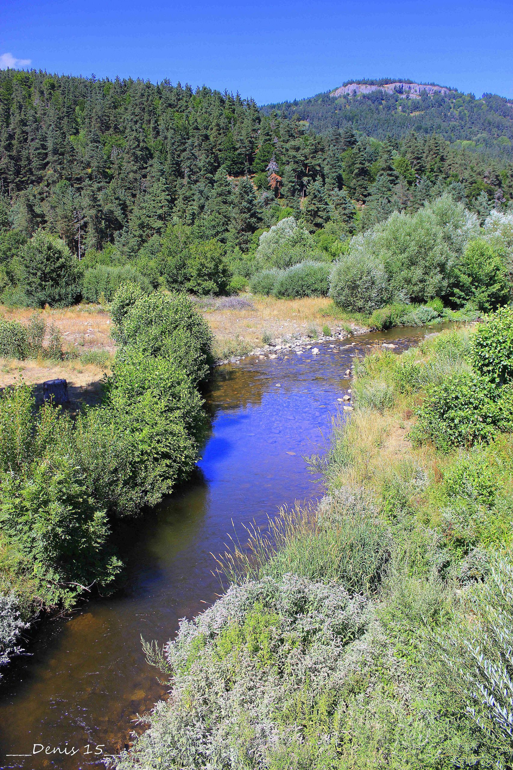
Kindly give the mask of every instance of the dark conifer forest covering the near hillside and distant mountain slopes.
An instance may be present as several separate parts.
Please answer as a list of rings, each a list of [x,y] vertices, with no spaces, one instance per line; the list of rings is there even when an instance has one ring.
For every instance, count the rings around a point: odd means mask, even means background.
[[[89,266],[135,260],[156,284],[152,259],[173,225],[192,228],[189,241],[210,243],[216,259],[240,259],[240,250],[256,248],[254,233],[292,213],[311,233],[331,220],[339,236],[350,235],[449,189],[482,221],[513,196],[513,166],[446,141],[444,99],[400,100],[403,110],[429,106],[431,123],[416,134],[402,126],[398,96],[374,92],[335,102],[325,95],[315,104],[344,104],[354,119],[340,118],[342,130],[319,135],[301,122],[297,105],[285,109],[290,118],[279,117],[206,87],[2,71],[0,290],[19,283],[12,259],[39,227],[79,259],[89,253]],[[458,99],[454,115],[481,115],[476,131],[488,121],[489,133],[497,126],[509,136],[505,100]],[[232,269],[241,272],[240,264]]]

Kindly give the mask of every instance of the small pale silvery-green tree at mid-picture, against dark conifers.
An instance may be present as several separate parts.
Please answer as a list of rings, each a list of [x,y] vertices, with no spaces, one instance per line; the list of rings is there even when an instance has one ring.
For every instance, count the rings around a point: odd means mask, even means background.
[[[262,233],[255,257],[260,268],[284,268],[314,258],[317,251],[317,244],[306,227],[298,224],[293,216],[287,216]]]

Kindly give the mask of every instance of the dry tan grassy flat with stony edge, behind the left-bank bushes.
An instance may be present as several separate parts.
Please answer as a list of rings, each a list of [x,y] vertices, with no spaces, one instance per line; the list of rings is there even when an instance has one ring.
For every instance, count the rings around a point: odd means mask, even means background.
[[[213,333],[216,363],[241,360],[246,356],[265,356],[298,344],[343,339],[349,333],[364,333],[365,327],[327,319],[330,306],[326,298],[276,300],[272,297],[226,297],[197,300],[196,308]],[[30,309],[0,306],[0,317],[26,325]],[[56,329],[62,350],[69,360],[15,360],[0,358],[0,389],[25,382],[35,388],[37,403],[42,400],[42,383],[63,378],[69,387],[71,407],[99,403],[102,380],[110,373],[116,343],[112,340],[108,307],[77,305],[72,308],[41,311],[47,337]],[[48,342],[48,340],[45,340]]]

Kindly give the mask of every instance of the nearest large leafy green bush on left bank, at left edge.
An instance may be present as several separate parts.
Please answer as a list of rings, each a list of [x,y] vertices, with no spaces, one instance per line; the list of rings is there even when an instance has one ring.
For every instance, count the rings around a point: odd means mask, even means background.
[[[45,604],[69,607],[83,587],[106,586],[119,561],[105,545],[109,526],[66,457],[41,460],[30,477],[4,474],[2,530],[33,564]]]

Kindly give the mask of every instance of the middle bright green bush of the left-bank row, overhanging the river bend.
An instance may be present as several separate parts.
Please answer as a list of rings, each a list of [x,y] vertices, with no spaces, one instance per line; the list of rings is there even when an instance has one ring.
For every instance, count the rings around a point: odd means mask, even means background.
[[[207,425],[202,397],[178,363],[126,346],[112,365],[102,408],[129,458],[126,485],[155,505],[198,459]]]

